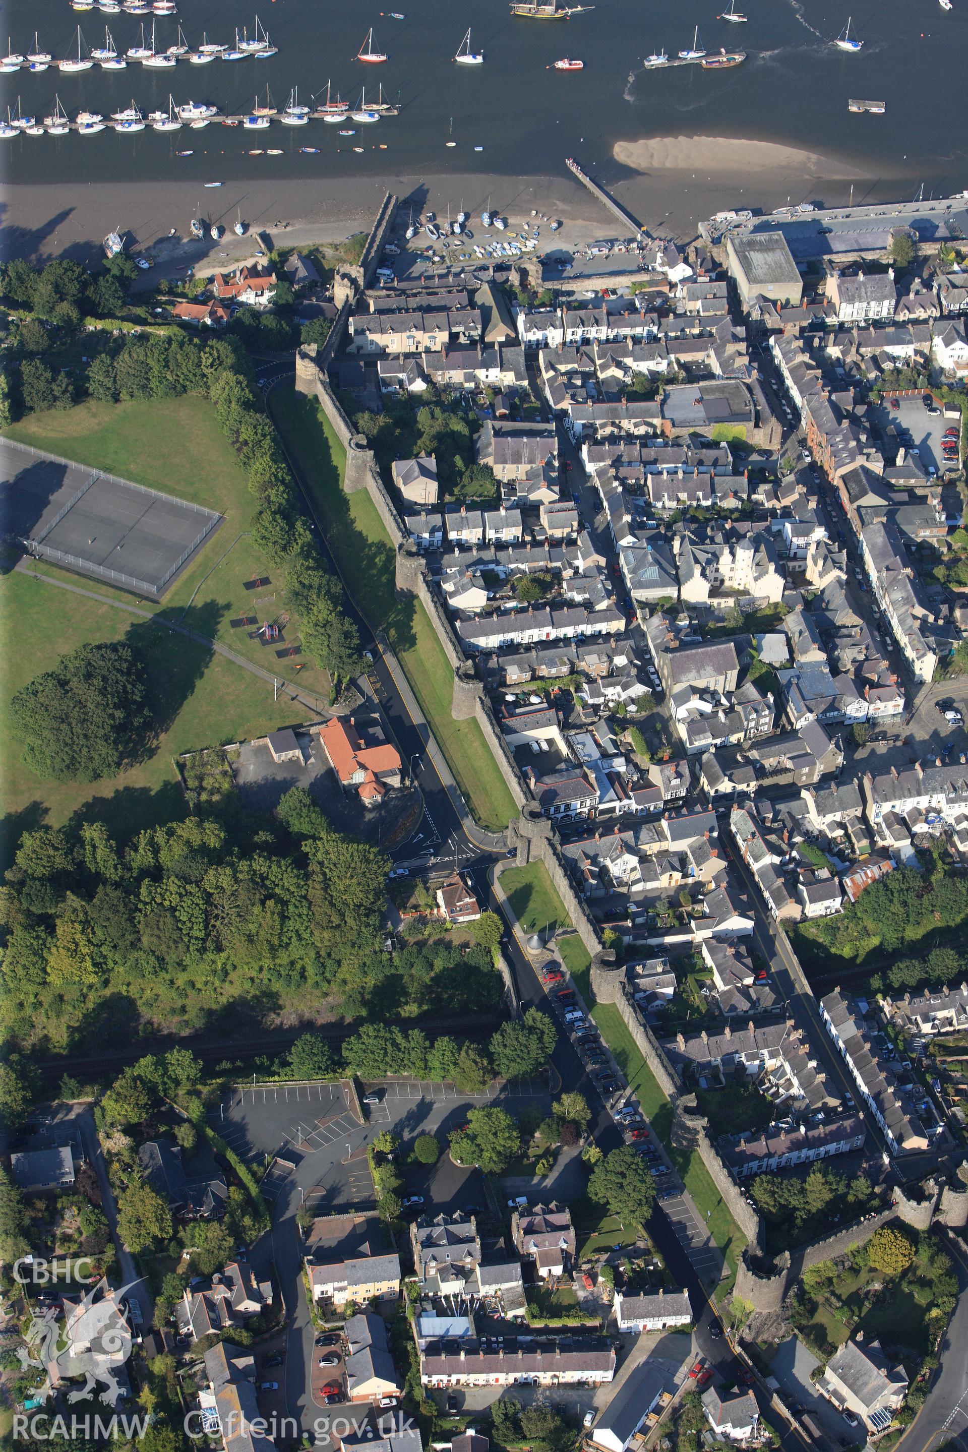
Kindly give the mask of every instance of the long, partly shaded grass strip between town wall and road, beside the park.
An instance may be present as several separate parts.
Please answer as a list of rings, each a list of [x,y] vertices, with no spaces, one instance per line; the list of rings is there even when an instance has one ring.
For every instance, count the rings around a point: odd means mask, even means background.
[[[276,389],[273,417],[315,494],[327,543],[357,607],[385,630],[447,764],[482,826],[504,829],[517,807],[476,720],[454,720],[454,672],[418,600],[396,598],[395,556],[376,505],[361,489],[345,494],[345,450],[315,399]]]

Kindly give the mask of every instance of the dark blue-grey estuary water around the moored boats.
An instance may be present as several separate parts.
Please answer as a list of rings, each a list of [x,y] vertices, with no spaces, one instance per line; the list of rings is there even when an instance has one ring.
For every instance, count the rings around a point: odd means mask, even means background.
[[[782,142],[834,158],[864,176],[858,197],[913,196],[922,182],[926,196],[968,184],[968,0],[955,0],[951,13],[938,0],[739,0],[747,25],[717,20],[717,0],[596,0],[566,23],[512,19],[506,0],[389,3],[401,4],[406,17],[382,16],[380,0],[258,0],[260,19],[279,46],[270,60],[206,67],[180,61],[167,71],[132,62],[125,71],[78,76],[54,67],[39,76],[20,71],[3,77],[3,106],[6,112],[19,94],[25,112],[44,116],[57,91],[71,116],[81,106],[107,113],[132,97],[149,110],[167,106],[171,93],[176,103],[210,100],[244,112],[267,84],[282,107],[292,87],[299,87],[300,102],[311,102],[331,78],[334,94],[353,103],[363,84],[374,97],[382,81],[385,97],[399,100],[398,118],[357,126],[351,138],[322,122],[298,129],[274,123],[267,132],[209,126],[173,135],[22,136],[0,141],[3,174],[15,183],[311,180],[390,171],[556,176],[573,154],[602,180],[618,182],[628,173],[612,158],[615,142],[708,135]],[[852,16],[865,42],[859,55],[829,44],[846,23],[849,3],[862,6]],[[203,30],[226,42],[237,25],[251,33],[251,4],[180,0],[177,17],[157,20],[158,49],[174,42],[179,25],[192,45]],[[41,48],[64,57],[78,20],[89,46],[104,44],[106,22],[122,52],[139,38],[134,16],[78,15],[68,0],[3,0],[0,48],[10,35],[13,48],[25,52],[38,30]],[[643,70],[652,51],[675,55],[689,45],[697,23],[707,49],[740,46],[746,64],[721,73]],[[389,54],[383,65],[354,60],[370,25],[374,48]],[[482,67],[453,64],[467,25],[473,49],[485,52]],[[547,68],[565,55],[581,58],[583,71]],[[887,113],[849,115],[849,97],[885,100]],[[250,155],[268,147],[283,154]],[[306,155],[300,147],[319,152]],[[193,154],[176,155],[183,150]],[[843,195],[842,184],[829,200]]]

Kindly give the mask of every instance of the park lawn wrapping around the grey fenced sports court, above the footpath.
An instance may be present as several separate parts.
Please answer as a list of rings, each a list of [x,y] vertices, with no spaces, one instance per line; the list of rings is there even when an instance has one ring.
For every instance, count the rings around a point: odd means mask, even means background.
[[[263,669],[273,671],[280,680],[290,684],[299,681],[300,691],[327,701],[329,678],[325,671],[309,658],[276,655],[276,649],[298,640],[299,621],[295,617],[287,624],[282,621],[286,613],[282,581],[273,578],[248,537],[255,499],[206,399],[89,401],[64,412],[33,414],[7,433],[35,449],[218,510],[223,515],[222,526],[174,581],[163,603],[145,601],[145,608],[160,610],[192,626]],[[41,568],[61,579],[73,578],[49,565]],[[245,582],[254,578],[268,578],[271,584],[245,590]],[[84,579],[77,582],[86,584]],[[89,588],[116,600],[132,598],[99,581],[91,581]],[[258,624],[280,624],[280,642],[263,645],[263,637],[250,640],[251,626],[232,626],[232,620],[245,616],[255,616]]]

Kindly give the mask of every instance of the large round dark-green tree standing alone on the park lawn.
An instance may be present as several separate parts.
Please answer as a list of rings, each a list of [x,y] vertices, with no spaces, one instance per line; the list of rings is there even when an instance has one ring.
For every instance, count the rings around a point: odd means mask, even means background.
[[[151,726],[144,664],[123,640],[81,645],[16,693],[10,717],[39,777],[116,777]]]

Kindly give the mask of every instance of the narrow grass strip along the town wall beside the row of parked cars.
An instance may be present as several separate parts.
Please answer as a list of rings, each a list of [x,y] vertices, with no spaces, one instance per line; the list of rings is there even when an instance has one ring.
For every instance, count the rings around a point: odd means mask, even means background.
[[[682,1178],[682,1183],[695,1201],[700,1215],[717,1246],[726,1256],[730,1268],[730,1281],[720,1282],[717,1295],[724,1294],[723,1286],[730,1285],[736,1275],[739,1256],[746,1244],[746,1237],[733,1220],[726,1201],[720,1195],[713,1176],[700,1159],[697,1151],[686,1154],[672,1144],[672,1105],[666,1099],[656,1076],[641,1057],[625,1021],[614,1003],[596,1003],[592,1018],[598,1024],[602,1038],[615,1056],[615,1061],[625,1074],[630,1088],[639,1098],[653,1133],[665,1144],[669,1159]]]

